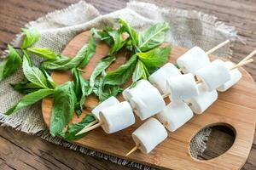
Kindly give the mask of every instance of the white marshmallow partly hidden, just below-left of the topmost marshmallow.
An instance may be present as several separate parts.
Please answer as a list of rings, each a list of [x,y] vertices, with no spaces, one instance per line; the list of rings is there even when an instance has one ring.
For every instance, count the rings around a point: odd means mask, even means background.
[[[148,80],[160,91],[161,94],[166,94],[166,80],[178,75],[181,75],[181,72],[177,67],[172,65],[172,63],[167,63],[148,77]]]

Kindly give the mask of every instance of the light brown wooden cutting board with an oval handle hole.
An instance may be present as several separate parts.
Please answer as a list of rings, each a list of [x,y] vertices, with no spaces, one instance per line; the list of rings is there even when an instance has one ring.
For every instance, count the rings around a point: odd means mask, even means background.
[[[74,37],[62,54],[74,56],[79,49],[89,40],[90,33],[85,31]],[[108,54],[108,46],[103,42],[97,42],[96,54],[86,65],[83,73],[84,78],[89,78],[96,63]],[[173,47],[170,55],[170,62],[174,61],[181,54],[187,51],[186,48]],[[125,53],[120,52],[118,59],[109,70],[117,68],[126,60]],[[215,56],[210,56],[215,59]],[[137,118],[137,122],[132,127],[128,127],[118,133],[104,133],[101,127],[90,132],[83,139],[73,141],[91,150],[97,150],[112,156],[118,156],[129,161],[136,161],[148,166],[163,169],[240,169],[247,160],[247,156],[253,144],[253,135],[256,122],[256,86],[253,78],[240,68],[242,78],[233,88],[227,92],[218,93],[218,100],[201,115],[195,115],[183,127],[175,133],[169,133],[168,138],[159,144],[150,154],[145,155],[139,150],[126,157],[125,154],[131,150],[134,143],[131,133],[139,127],[142,122]],[[51,76],[57,84],[67,82],[71,79],[69,71],[54,71]],[[125,86],[128,86],[126,84]],[[122,96],[118,96],[123,100]],[[87,108],[97,105],[96,96],[91,95],[85,102]],[[42,104],[44,122],[49,127],[51,99],[44,99]],[[84,110],[83,115],[78,118],[73,116],[72,122],[79,122],[81,118],[90,111]],[[226,124],[234,129],[236,139],[230,150],[223,155],[208,161],[199,161],[190,156],[189,141],[203,127],[217,124]]]

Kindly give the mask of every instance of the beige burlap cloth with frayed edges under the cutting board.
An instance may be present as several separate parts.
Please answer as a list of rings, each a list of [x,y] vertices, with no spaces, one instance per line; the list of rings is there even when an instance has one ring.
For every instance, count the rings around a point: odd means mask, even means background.
[[[100,29],[105,26],[116,25],[116,20],[119,17],[127,20],[137,31],[143,30],[156,22],[167,21],[170,23],[171,30],[167,33],[166,42],[187,48],[197,45],[207,50],[226,39],[236,39],[234,27],[225,26],[224,23],[218,21],[212,15],[178,8],[159,8],[154,4],[137,2],[127,3],[125,8],[101,15],[92,5],[82,1],[68,8],[47,14],[38,20],[30,22],[26,27],[36,27],[42,34],[41,39],[35,46],[51,48],[56,53],[61,53],[67,42],[79,32],[89,30],[91,27]],[[12,44],[15,46],[20,44],[20,35],[17,35]],[[230,56],[230,47],[221,48],[216,54]],[[39,60],[36,62],[39,62]],[[23,78],[24,76],[20,69],[15,75],[0,82],[0,113],[6,111],[22,96],[15,92],[9,83],[19,82]],[[26,107],[12,116],[6,117],[0,114],[0,120],[3,126],[14,127],[16,130],[25,133],[37,134],[50,142],[67,146],[73,150],[79,150],[91,156],[102,157],[128,167],[150,168],[50,137],[48,130],[44,126],[41,102]],[[207,137],[210,133],[211,129],[207,128],[198,133],[192,140],[190,150],[193,156],[199,156],[205,150]]]

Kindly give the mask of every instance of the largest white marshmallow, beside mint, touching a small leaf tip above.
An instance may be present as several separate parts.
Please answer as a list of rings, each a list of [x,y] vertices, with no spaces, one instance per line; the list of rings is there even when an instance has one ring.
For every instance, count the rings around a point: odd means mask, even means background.
[[[141,120],[154,116],[166,107],[160,92],[146,80],[138,81],[134,88],[125,89],[123,95],[130,101]]]

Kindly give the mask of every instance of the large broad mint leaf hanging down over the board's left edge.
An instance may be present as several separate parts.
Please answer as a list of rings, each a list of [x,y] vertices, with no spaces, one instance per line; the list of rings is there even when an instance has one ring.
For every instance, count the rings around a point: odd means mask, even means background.
[[[76,95],[73,88],[73,82],[65,82],[55,88],[49,122],[49,133],[52,136],[61,133],[73,118],[74,105],[76,103]]]

